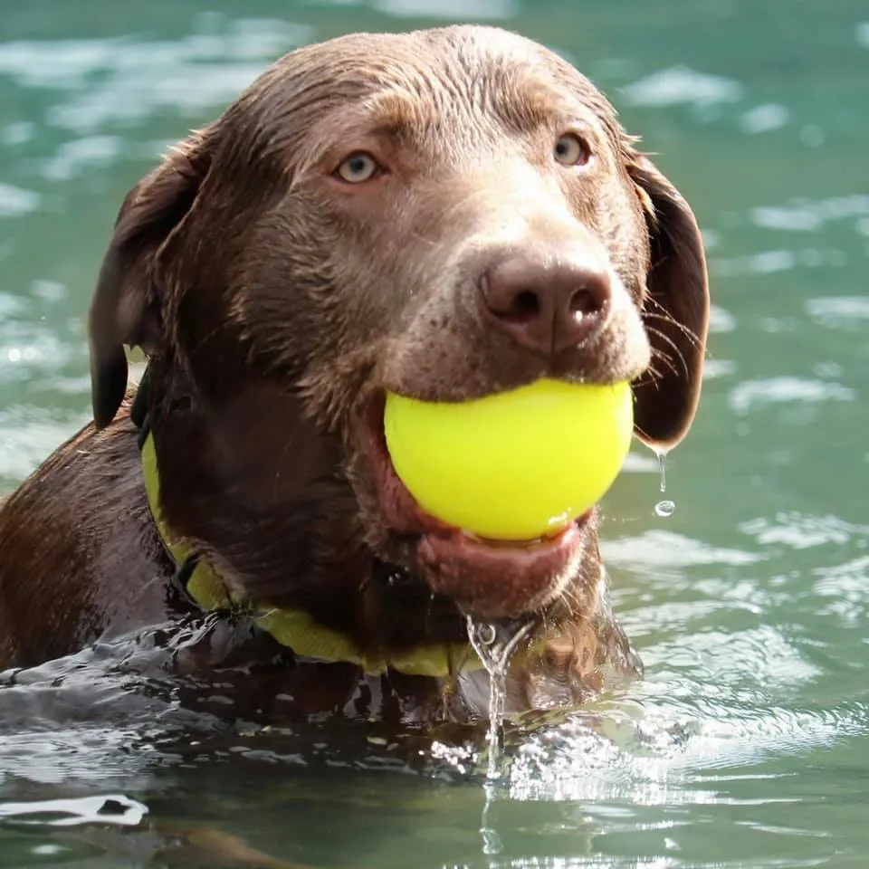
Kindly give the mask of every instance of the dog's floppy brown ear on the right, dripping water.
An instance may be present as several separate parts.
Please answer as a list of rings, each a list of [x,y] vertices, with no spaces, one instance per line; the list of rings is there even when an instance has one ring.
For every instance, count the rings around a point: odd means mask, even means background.
[[[652,366],[634,385],[636,434],[670,448],[691,427],[703,374],[709,283],[700,229],[691,207],[654,167],[636,155],[628,166],[651,243],[643,310]]]

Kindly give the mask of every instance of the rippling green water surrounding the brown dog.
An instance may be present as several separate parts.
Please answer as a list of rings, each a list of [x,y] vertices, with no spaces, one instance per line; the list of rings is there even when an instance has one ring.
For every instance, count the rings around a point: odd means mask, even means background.
[[[330,758],[337,734],[173,754],[141,739],[171,703],[48,668],[0,689],[0,866],[869,864],[865,0],[2,6],[5,490],[87,418],[82,313],[122,196],[312,39],[467,15],[568,53],[692,202],[715,309],[673,516],[640,452],[606,504],[645,681],[512,748],[488,845],[454,748],[427,775]],[[127,810],[95,814],[107,796]]]

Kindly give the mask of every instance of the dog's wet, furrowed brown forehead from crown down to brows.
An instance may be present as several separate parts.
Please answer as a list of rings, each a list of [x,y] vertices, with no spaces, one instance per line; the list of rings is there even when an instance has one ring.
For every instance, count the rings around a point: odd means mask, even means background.
[[[420,152],[473,153],[584,120],[619,138],[606,98],[558,54],[516,33],[456,25],[354,33],[285,55],[226,111],[226,147],[296,171],[324,148],[399,133]]]

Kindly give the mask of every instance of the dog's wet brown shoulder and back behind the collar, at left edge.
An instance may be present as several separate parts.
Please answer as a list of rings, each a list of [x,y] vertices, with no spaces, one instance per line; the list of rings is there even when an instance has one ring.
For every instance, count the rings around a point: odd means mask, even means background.
[[[162,621],[170,570],[125,408],[72,435],[0,503],[0,668]]]

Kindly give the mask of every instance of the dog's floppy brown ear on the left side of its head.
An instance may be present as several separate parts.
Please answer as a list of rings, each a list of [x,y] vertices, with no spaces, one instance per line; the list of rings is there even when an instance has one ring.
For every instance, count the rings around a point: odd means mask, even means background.
[[[124,345],[160,347],[163,323],[158,256],[199,192],[207,159],[199,135],[142,178],[121,205],[91,301],[91,403],[98,428],[109,425],[127,389]]]

